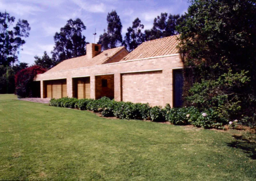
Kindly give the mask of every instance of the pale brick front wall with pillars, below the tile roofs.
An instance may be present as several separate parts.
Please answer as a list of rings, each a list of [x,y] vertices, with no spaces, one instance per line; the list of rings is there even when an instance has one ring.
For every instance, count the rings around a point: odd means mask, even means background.
[[[169,56],[162,58],[154,58],[154,59],[145,59],[145,60],[136,60],[136,61],[126,61],[126,62],[117,62],[104,64],[93,67],[86,68],[78,68],[68,71],[60,71],[53,73],[44,73],[37,75],[36,80],[41,81],[41,97],[43,97],[43,81],[49,79],[58,79],[58,78],[67,78],[67,93],[68,97],[72,97],[72,77],[77,76],[87,76],[90,75],[91,81],[91,98],[96,98],[95,95],[95,76],[99,74],[114,74],[114,96],[116,101],[121,100],[121,73],[129,72],[129,71],[145,71],[152,69],[162,69],[162,74],[153,74],[152,80],[148,80],[149,75],[144,76],[138,74],[136,79],[140,81],[140,83],[148,82],[148,86],[154,84],[156,86],[156,90],[147,90],[149,88],[140,90],[143,91],[144,94],[140,94],[140,96],[136,96],[134,91],[127,86],[128,84],[124,84],[123,88],[123,98],[130,96],[131,101],[141,101],[148,102],[152,106],[165,106],[166,103],[169,103],[172,106],[172,69],[176,69],[178,67],[182,67],[183,64],[180,61],[180,56]],[[151,73],[148,73],[151,74]],[[123,75],[123,74],[122,74]],[[128,80],[128,79],[127,79]],[[149,86],[149,87],[150,87]],[[142,89],[143,87],[140,87]],[[128,90],[127,90],[128,89]],[[130,91],[129,91],[130,89]],[[150,93],[150,98],[148,97]],[[132,92],[132,93],[131,93]]]

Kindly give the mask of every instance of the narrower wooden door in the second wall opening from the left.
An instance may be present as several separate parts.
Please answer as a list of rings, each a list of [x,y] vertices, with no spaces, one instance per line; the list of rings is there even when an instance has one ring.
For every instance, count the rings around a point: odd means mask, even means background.
[[[90,78],[81,78],[77,80],[77,98],[91,98]]]

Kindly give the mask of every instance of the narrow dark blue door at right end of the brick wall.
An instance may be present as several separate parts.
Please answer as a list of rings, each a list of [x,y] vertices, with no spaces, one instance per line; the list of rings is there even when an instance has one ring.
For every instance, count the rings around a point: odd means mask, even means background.
[[[183,89],[183,74],[182,69],[177,69],[173,71],[173,79],[174,79],[174,107],[182,106],[182,89]]]

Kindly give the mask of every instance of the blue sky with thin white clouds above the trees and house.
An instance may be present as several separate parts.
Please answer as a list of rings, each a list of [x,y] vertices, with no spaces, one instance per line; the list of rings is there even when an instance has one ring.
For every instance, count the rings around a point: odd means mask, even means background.
[[[137,17],[144,24],[144,30],[150,29],[161,12],[183,14],[188,6],[188,0],[0,0],[1,12],[6,10],[16,20],[25,19],[30,24],[30,35],[19,55],[20,62],[30,65],[34,63],[34,56],[42,56],[44,51],[51,57],[53,36],[70,18],[80,18],[84,22],[83,35],[87,42],[94,43],[95,28],[97,42],[103,29],[107,28],[106,17],[111,10],[116,10],[120,16],[124,37]]]

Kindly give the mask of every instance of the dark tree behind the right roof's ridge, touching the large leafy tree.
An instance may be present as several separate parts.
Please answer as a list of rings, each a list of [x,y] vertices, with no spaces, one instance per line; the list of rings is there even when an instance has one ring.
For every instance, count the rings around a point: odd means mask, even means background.
[[[146,40],[154,40],[158,38],[164,38],[167,36],[177,35],[176,26],[179,25],[182,20],[185,18],[185,15],[179,14],[168,14],[161,13],[160,16],[157,16],[154,19],[153,28],[150,30],[145,30]]]

